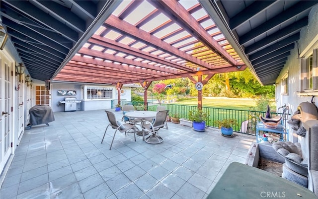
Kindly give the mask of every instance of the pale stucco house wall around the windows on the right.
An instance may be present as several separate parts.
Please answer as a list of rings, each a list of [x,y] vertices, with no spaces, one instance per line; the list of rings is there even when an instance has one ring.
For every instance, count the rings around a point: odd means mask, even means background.
[[[318,90],[311,92],[300,92],[300,64],[299,58],[306,57],[308,54],[313,53],[313,49],[318,48],[318,6],[312,8],[309,14],[308,26],[304,27],[300,33],[299,52],[298,44],[295,43],[295,49],[291,51],[291,55],[288,58],[284,68],[280,75],[276,79],[276,105],[277,108],[283,106],[285,103],[289,106],[289,113],[293,113],[297,110],[298,105],[301,102],[311,102],[312,97],[316,106],[318,105]],[[300,55],[300,57],[299,57]],[[288,73],[288,94],[282,94],[282,78]],[[289,140],[298,141],[298,136],[294,133],[290,127]]]

